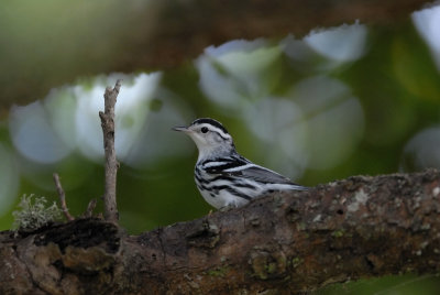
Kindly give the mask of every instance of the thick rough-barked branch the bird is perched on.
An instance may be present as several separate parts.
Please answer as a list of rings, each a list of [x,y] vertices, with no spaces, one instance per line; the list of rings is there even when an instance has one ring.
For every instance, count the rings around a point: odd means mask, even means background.
[[[440,173],[429,170],[274,194],[140,236],[99,219],[6,231],[0,293],[290,294],[437,273],[439,197]]]

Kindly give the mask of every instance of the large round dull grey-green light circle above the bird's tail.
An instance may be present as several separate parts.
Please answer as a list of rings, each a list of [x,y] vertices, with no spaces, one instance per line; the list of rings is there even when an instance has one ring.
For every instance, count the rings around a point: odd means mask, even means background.
[[[327,170],[346,160],[364,129],[362,106],[350,88],[340,80],[316,76],[295,85],[292,95],[307,125],[302,154],[307,166]]]

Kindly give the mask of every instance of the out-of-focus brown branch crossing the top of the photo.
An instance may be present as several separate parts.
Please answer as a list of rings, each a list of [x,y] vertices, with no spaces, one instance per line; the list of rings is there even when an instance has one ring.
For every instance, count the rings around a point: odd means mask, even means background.
[[[78,76],[177,67],[183,62],[196,58],[205,47],[231,40],[284,37],[287,34],[301,37],[317,28],[353,23],[356,20],[367,24],[396,25],[413,11],[432,1],[162,0],[144,3],[128,1],[121,8],[114,2],[114,11],[122,10],[118,15],[118,30],[114,30],[114,22],[101,19],[99,28],[96,28],[98,31],[85,26],[79,34],[59,35],[59,42],[50,47],[46,43],[35,44],[40,47],[35,53],[30,52],[28,59],[38,70],[26,70],[25,77],[23,67],[19,66],[21,55],[16,55],[16,61],[12,59],[16,62],[16,66],[11,67],[3,79],[0,77],[1,107],[31,102],[35,97],[47,95],[54,86],[72,83]],[[107,14],[101,15],[107,18]],[[96,20],[100,15],[90,6],[90,9],[81,10],[81,17]],[[47,26],[41,26],[41,31],[36,31],[35,35],[47,36],[47,28],[57,25],[58,22],[56,18],[53,19],[51,21],[48,18]],[[81,29],[75,26],[75,20],[73,18],[69,26],[77,32]],[[111,34],[108,34],[110,31]],[[106,37],[97,39],[96,34]],[[63,51],[66,42],[82,44],[84,40],[88,41],[87,48],[78,47],[66,53],[67,55],[54,54]],[[4,46],[13,50],[18,45],[10,42]],[[4,58],[11,59],[14,55]],[[51,68],[42,72],[47,63],[61,62],[65,65],[63,75]],[[21,83],[10,83],[11,80],[21,80],[28,87],[22,87]]]

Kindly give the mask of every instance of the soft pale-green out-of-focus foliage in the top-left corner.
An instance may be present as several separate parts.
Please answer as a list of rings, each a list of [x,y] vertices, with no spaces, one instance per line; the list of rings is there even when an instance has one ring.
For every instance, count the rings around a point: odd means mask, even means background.
[[[29,103],[41,98],[43,89],[85,73],[114,70],[109,64],[122,68],[129,63],[127,43],[147,35],[133,28],[153,26],[155,15],[152,1],[143,0],[122,6],[116,0],[3,1],[0,65],[8,70],[0,73],[0,107]]]

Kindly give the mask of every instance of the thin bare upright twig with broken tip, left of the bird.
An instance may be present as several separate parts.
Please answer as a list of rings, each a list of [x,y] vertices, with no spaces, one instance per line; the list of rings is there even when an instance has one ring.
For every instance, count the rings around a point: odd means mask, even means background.
[[[114,151],[114,105],[121,88],[121,80],[117,80],[114,88],[106,88],[105,112],[99,112],[103,134],[103,149],[106,154],[106,190],[103,194],[105,218],[111,222],[118,222],[117,207],[117,172],[119,163]]]

